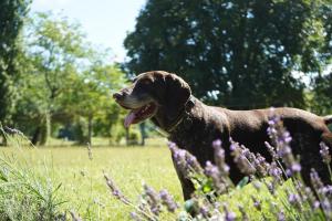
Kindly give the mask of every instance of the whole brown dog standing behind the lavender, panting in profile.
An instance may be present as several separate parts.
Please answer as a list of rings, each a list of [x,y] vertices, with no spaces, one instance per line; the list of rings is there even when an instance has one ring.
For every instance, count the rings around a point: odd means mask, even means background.
[[[139,74],[133,85],[115,93],[114,98],[124,108],[131,109],[125,126],[152,118],[154,124],[169,134],[169,139],[191,152],[205,166],[214,161],[211,143],[220,138],[230,166],[230,178],[237,183],[242,175],[229,152],[229,137],[253,152],[271,159],[264,141],[269,109],[230,110],[207,106],[191,95],[189,85],[175,74],[154,71]],[[332,116],[320,117],[297,108],[276,108],[287,129],[292,135],[292,151],[300,155],[302,176],[309,183],[311,168],[315,168],[328,182],[329,172],[319,154],[319,143],[332,148],[332,133],[326,127]],[[176,165],[176,164],[175,164]],[[189,199],[193,183],[178,172],[184,197]]]

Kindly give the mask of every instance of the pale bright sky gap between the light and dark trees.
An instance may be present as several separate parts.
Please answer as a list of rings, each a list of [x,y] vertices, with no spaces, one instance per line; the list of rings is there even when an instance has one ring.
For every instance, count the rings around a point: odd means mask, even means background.
[[[87,40],[110,48],[116,62],[125,59],[123,41],[133,31],[139,10],[146,0],[33,0],[31,13],[62,12],[82,24]]]

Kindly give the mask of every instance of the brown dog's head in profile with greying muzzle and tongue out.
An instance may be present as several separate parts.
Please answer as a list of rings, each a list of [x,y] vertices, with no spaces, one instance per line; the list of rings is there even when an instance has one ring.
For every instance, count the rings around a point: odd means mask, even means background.
[[[179,76],[163,71],[139,74],[133,84],[113,94],[124,108],[131,109],[125,126],[157,116],[165,126],[179,114],[191,94],[189,85]]]

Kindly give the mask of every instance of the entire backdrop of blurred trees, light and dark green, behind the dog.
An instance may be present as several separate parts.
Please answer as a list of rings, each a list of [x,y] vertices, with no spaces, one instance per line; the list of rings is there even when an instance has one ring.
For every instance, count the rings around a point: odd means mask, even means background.
[[[25,18],[29,3],[0,1],[0,122],[35,145],[50,136],[144,144],[155,127],[125,130],[112,93],[151,70],[179,74],[208,104],[331,114],[331,0],[148,0],[124,64],[61,13]]]

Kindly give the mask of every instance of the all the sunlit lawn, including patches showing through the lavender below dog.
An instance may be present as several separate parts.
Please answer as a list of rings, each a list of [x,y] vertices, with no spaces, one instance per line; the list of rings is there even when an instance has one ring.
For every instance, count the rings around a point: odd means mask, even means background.
[[[183,202],[180,185],[165,139],[147,140],[146,147],[92,147],[92,160],[89,158],[87,147],[83,146],[10,147],[1,148],[0,154],[2,161],[11,161],[18,170],[27,173],[28,169],[29,172],[45,178],[48,183],[53,185],[53,189],[61,185],[56,192],[58,199],[64,201],[60,206],[61,211],[74,211],[83,220],[129,220],[133,209],[114,199],[106,187],[103,171],[134,202],[142,193],[143,183],[157,191],[167,189],[176,201]],[[40,178],[37,182],[40,182]],[[221,196],[218,201],[220,204],[227,202],[227,207],[238,218],[241,217],[238,208],[241,206],[249,220],[276,220],[276,213],[280,211],[283,211],[287,220],[299,220],[299,214],[290,207],[284,191],[293,188],[291,182],[286,182],[274,196],[269,193],[267,187],[261,186],[260,190],[255,189],[251,183],[236,188]],[[260,209],[255,207],[252,197],[258,200]],[[162,218],[175,220],[170,213]]]

